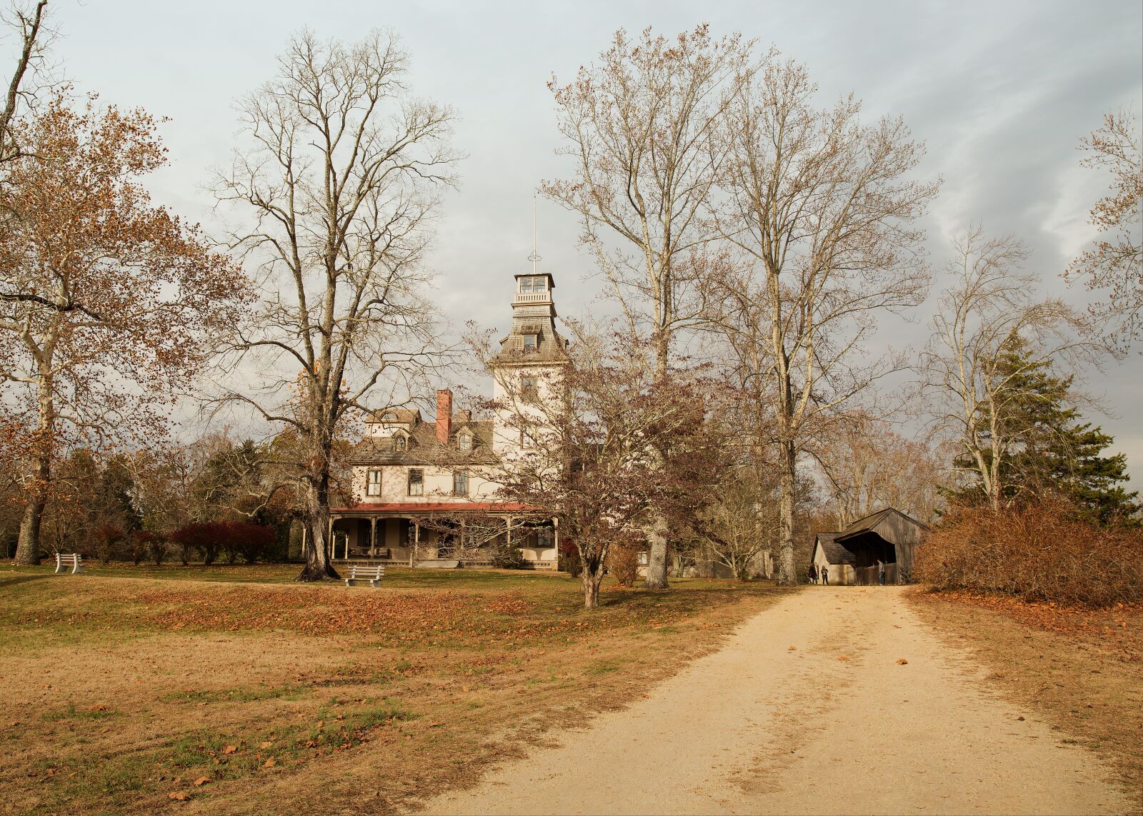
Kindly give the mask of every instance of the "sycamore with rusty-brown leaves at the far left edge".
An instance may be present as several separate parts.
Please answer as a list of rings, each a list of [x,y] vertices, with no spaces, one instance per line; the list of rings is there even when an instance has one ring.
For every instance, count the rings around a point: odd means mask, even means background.
[[[79,446],[152,441],[239,317],[240,270],[152,203],[167,161],[142,110],[54,96],[13,126],[0,185],[0,382],[25,497],[16,559],[40,559],[53,466]]]

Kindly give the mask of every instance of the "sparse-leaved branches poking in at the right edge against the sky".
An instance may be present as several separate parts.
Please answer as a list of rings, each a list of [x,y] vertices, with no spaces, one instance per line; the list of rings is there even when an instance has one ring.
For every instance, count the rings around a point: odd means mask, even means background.
[[[1106,114],[1080,147],[1087,153],[1081,165],[1111,173],[1111,193],[1096,201],[1089,222],[1114,234],[1074,258],[1064,278],[1106,291],[1108,302],[1092,313],[1114,320],[1113,339],[1126,346],[1143,333],[1143,153],[1135,115],[1126,110]]]

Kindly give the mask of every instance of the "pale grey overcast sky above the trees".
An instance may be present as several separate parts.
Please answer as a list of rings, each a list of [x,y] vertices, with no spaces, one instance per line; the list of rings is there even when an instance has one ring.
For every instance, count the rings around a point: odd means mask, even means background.
[[[170,168],[159,201],[210,229],[208,168],[224,163],[237,130],[233,101],[269,79],[274,57],[303,26],[352,40],[390,26],[411,55],[418,95],[448,103],[467,154],[449,195],[432,262],[439,302],[457,325],[505,329],[512,274],[527,267],[538,179],[567,173],[553,103],[554,73],[570,78],[617,27],[663,33],[701,22],[718,37],[741,31],[805,63],[823,104],[854,91],[870,119],[904,117],[928,154],[924,177],[943,176],[927,219],[934,266],[948,237],[978,219],[1015,232],[1033,250],[1047,290],[1092,238],[1087,211],[1106,179],[1078,166],[1077,141],[1121,105],[1143,110],[1143,3],[1101,2],[390,2],[59,0],[56,53],[79,90],[170,118]],[[599,283],[576,246],[575,218],[539,206],[539,253],[555,275],[562,314],[583,313]],[[937,287],[940,288],[940,279]],[[1079,297],[1079,294],[1076,293]],[[881,342],[918,343],[928,313],[893,322]],[[1089,378],[1114,416],[1143,487],[1143,357]]]

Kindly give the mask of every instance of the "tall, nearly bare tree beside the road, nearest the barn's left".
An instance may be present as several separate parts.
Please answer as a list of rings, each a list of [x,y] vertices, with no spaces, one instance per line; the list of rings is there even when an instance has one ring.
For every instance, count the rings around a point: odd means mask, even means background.
[[[814,104],[794,63],[743,79],[721,121],[728,155],[716,223],[733,248],[709,278],[708,317],[776,427],[778,581],[793,584],[794,490],[814,427],[888,368],[863,346],[879,315],[914,306],[928,274],[920,217],[937,184],[910,181],[924,153],[900,119],[860,121],[853,96]],[[759,440],[764,441],[764,440]]]

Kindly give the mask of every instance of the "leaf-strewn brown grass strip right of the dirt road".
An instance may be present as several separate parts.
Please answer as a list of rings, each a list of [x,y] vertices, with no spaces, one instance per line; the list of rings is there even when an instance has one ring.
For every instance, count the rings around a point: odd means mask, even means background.
[[[932,592],[910,600],[937,632],[975,653],[1004,696],[1114,767],[1143,813],[1143,607]]]

